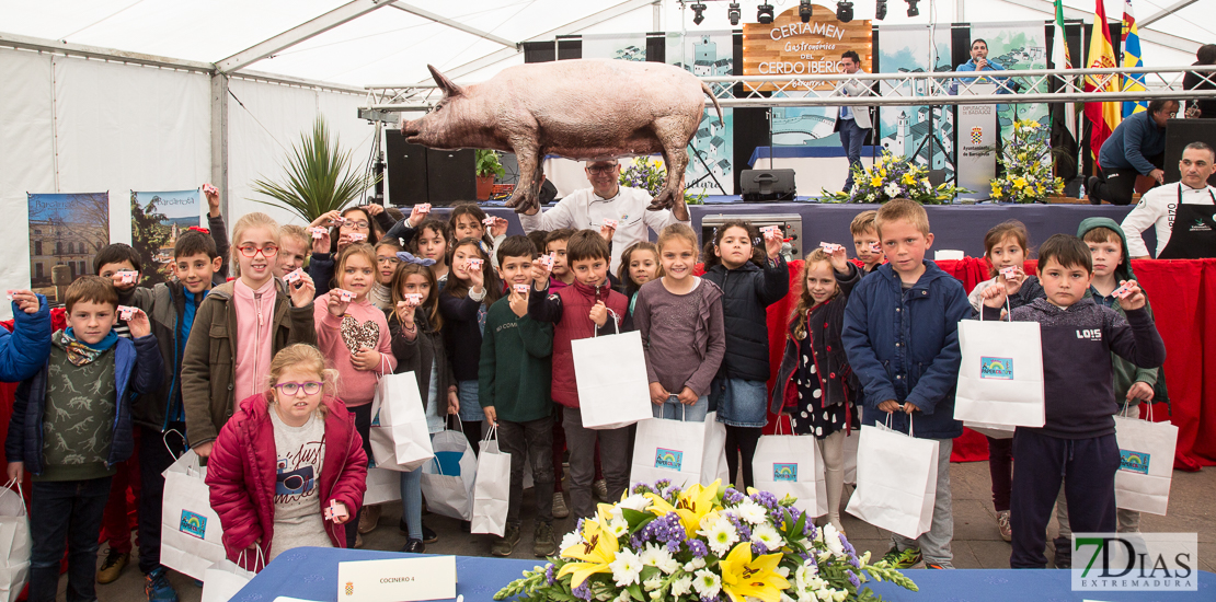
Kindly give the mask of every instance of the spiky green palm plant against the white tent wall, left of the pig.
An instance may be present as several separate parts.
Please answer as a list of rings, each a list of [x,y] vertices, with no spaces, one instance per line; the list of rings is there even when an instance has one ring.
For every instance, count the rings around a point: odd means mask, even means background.
[[[292,146],[285,170],[282,181],[263,178],[253,181],[254,192],[274,201],[253,201],[283,207],[308,223],[342,209],[381,179],[350,170],[350,151],[342,150],[337,136],[331,139],[320,116],[313,122],[311,135],[302,133],[299,142]]]

